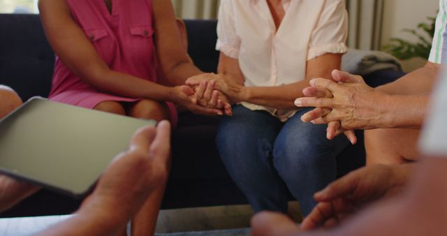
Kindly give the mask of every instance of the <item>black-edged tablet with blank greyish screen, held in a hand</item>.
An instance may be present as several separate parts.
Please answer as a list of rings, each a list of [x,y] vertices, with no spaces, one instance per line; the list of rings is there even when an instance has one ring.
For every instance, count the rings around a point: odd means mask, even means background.
[[[0,121],[0,172],[80,198],[138,128],[155,124],[31,98]]]

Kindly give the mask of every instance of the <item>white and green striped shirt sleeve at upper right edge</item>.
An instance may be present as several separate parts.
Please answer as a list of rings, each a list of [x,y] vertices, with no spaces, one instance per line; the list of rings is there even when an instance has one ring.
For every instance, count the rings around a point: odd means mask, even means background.
[[[429,61],[436,64],[447,62],[447,0],[439,0],[439,13],[436,20],[432,50]]]

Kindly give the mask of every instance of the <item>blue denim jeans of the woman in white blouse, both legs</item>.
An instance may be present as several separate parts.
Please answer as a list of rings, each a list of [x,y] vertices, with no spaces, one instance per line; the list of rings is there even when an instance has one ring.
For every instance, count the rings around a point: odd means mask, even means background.
[[[300,110],[281,122],[265,111],[233,107],[217,131],[217,149],[226,169],[254,212],[287,212],[288,191],[307,215],[313,195],[336,177],[335,156],[349,144],[326,138],[326,125],[303,123]]]

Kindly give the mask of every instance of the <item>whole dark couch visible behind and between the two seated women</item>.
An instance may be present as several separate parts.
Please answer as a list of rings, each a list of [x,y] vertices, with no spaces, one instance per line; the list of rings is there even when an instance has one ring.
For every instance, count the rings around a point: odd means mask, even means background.
[[[216,21],[186,21],[189,54],[203,71],[216,71],[218,52]],[[6,84],[26,101],[31,96],[47,96],[50,91],[54,54],[48,45],[38,15],[0,14],[0,84]],[[402,75],[400,71],[379,71],[366,77],[371,84],[383,84]],[[218,117],[179,117],[173,134],[173,168],[163,200],[163,208],[233,205],[246,200],[232,182],[214,145]],[[359,143],[337,157],[338,174],[363,165],[365,149]],[[66,214],[77,209],[73,200],[50,191],[41,191],[0,216]]]

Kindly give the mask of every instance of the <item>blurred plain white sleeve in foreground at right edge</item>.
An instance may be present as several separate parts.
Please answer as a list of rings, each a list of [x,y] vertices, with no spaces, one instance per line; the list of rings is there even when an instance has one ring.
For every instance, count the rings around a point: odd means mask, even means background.
[[[419,148],[424,156],[447,156],[447,68],[443,68],[432,96]]]

